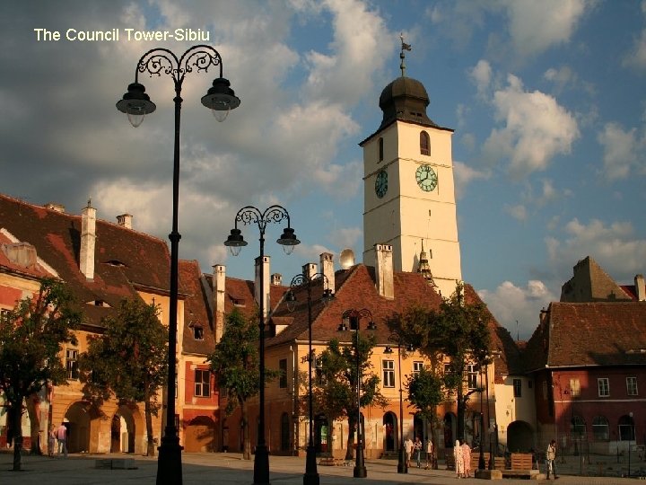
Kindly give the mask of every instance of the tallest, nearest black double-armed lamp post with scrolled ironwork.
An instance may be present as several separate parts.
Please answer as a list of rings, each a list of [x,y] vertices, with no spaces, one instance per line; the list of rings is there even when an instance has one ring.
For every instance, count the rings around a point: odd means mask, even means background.
[[[169,312],[169,348],[168,348],[168,384],[166,385],[166,428],[162,437],[157,460],[157,483],[181,484],[181,450],[178,429],[175,427],[175,353],[177,342],[177,313],[179,298],[179,126],[181,113],[181,89],[184,77],[188,73],[206,72],[210,66],[220,66],[220,77],[214,80],[213,87],[202,98],[206,108],[219,113],[216,118],[223,121],[230,110],[240,106],[231,84],[223,78],[223,62],[220,53],[210,46],[199,45],[188,48],[181,57],[177,57],[167,48],[153,48],[139,59],[135,68],[135,83],[128,85],[127,93],[117,102],[117,109],[127,114],[133,127],[138,127],[144,116],[156,110],[150,96],[145,93],[143,84],[139,84],[139,73],[151,75],[170,75],[175,87],[175,142],[173,151],[173,197],[172,197],[172,231],[170,239],[170,312]],[[224,113],[223,116],[220,114]],[[150,439],[150,437],[149,437]]]

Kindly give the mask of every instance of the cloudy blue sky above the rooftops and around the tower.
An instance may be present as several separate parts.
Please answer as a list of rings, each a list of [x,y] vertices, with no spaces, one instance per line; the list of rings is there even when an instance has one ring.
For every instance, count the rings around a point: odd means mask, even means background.
[[[202,37],[142,38],[176,29]],[[284,224],[266,226],[284,284],[323,251],[360,262],[358,144],[401,75],[400,34],[429,118],[455,130],[462,276],[496,319],[527,339],[586,256],[633,284],[646,271],[644,0],[4,0],[0,192],[73,214],[91,199],[100,219],[127,213],[168,240],[172,80],[140,75],[157,110],[138,128],[115,103],[148,50],[208,44],[241,103],[219,123],[200,104],[217,70],[185,77],[179,257],[253,278],[258,227],[238,257],[223,242],[241,207],[280,204],[301,240],[286,256]]]

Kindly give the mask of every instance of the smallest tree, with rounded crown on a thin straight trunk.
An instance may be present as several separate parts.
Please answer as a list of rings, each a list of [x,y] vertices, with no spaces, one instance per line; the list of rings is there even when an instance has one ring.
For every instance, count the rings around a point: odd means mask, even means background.
[[[423,367],[420,372],[408,376],[406,390],[408,401],[417,409],[418,415],[432,424],[432,467],[437,469],[437,407],[444,400],[444,382],[441,376]]]

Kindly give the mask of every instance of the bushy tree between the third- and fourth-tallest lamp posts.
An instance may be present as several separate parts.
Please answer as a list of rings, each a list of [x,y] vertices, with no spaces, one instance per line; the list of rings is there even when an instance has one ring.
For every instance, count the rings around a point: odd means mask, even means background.
[[[313,390],[317,408],[330,421],[348,419],[345,459],[353,459],[354,428],[357,424],[357,378],[362,376],[361,406],[385,408],[388,400],[380,392],[380,378],[372,373],[371,355],[374,339],[364,339],[354,333],[352,346],[342,346],[330,340],[321,354],[320,378]],[[359,375],[357,375],[357,357]]]

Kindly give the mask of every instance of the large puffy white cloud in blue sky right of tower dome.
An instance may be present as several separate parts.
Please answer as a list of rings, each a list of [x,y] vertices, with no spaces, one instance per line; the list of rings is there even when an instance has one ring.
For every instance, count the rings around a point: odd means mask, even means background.
[[[485,141],[485,155],[493,162],[510,160],[509,173],[520,179],[546,170],[557,154],[569,154],[580,137],[576,119],[554,97],[539,91],[527,92],[515,75],[508,85],[493,94],[494,128]]]

